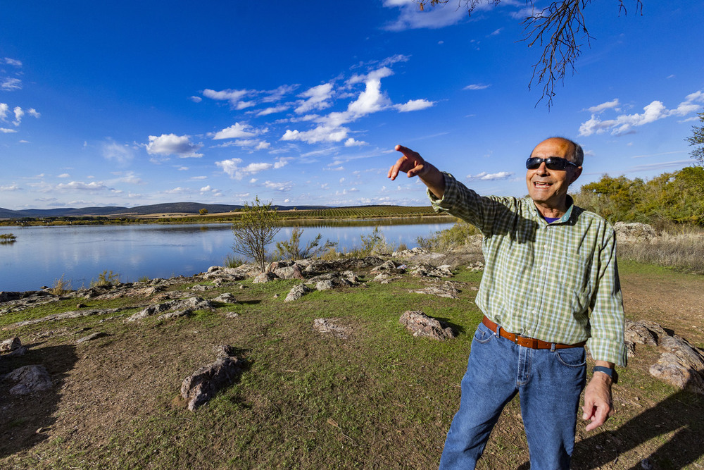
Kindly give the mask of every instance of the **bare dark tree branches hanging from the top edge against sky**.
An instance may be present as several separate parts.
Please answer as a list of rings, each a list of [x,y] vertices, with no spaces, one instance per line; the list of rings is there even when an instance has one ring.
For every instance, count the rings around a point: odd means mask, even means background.
[[[449,0],[416,0],[421,11],[426,6],[437,6],[447,4]],[[617,0],[619,14],[627,14],[624,0]],[[632,0],[635,3],[636,13],[643,14],[642,0]],[[562,0],[553,1],[550,5],[541,10],[534,10],[532,15],[523,20],[524,38],[528,47],[538,46],[542,48],[539,60],[533,65],[533,74],[528,84],[543,84],[543,94],[538,102],[547,98],[547,106],[550,108],[555,96],[555,84],[564,83],[567,70],[574,73],[574,62],[582,54],[582,41],[589,45],[589,35],[584,22],[584,8],[591,0]],[[467,13],[470,15],[479,4],[486,3],[498,5],[501,0],[458,0],[458,8],[464,4]],[[526,0],[529,6],[534,5],[533,0]],[[537,105],[537,103],[536,103]]]

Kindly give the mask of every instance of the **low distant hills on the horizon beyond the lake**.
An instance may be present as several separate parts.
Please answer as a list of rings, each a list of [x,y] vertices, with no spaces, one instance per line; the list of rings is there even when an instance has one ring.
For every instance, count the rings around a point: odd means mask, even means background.
[[[312,210],[327,209],[329,206],[273,206],[279,211],[290,209]],[[198,214],[201,209],[208,209],[209,214],[220,212],[239,211],[242,206],[230,204],[199,204],[198,202],[169,202],[165,204],[151,204],[136,207],[83,207],[76,209],[64,207],[61,209],[24,209],[12,211],[0,207],[0,218],[22,217],[82,217],[82,216],[146,216],[149,214]]]

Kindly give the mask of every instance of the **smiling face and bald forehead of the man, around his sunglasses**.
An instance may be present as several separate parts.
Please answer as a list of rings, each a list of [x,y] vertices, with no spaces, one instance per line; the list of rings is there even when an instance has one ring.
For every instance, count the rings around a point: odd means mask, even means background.
[[[546,159],[548,156],[559,156],[572,161],[572,144],[566,140],[551,138],[538,144],[531,156]],[[567,187],[570,186],[582,173],[579,168],[567,165],[564,170],[549,170],[545,162],[535,170],[526,172],[528,194],[536,204],[553,209],[564,207],[567,198]]]

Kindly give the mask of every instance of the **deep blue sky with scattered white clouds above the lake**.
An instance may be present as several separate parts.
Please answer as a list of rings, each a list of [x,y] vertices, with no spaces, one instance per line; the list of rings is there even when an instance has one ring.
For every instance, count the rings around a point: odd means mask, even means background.
[[[617,3],[548,110],[522,0],[0,0],[0,206],[425,205],[397,143],[480,194],[526,194],[552,135],[586,151],[575,191],[689,166],[704,2]]]

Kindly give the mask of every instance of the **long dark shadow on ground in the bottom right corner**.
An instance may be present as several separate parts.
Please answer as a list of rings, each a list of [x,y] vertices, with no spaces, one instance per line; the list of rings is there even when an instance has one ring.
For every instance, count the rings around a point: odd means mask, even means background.
[[[673,432],[665,440],[665,434]],[[702,436],[704,397],[680,391],[634,416],[615,431],[604,431],[576,443],[572,468],[586,470],[608,465],[620,454],[660,438],[662,444],[643,457],[656,469],[684,469],[704,455]],[[630,468],[641,469],[641,463],[635,462]]]

